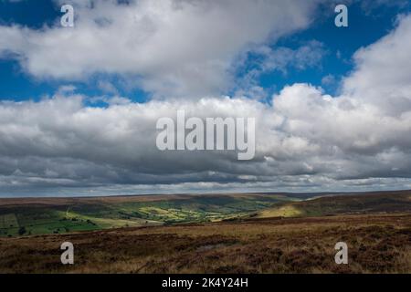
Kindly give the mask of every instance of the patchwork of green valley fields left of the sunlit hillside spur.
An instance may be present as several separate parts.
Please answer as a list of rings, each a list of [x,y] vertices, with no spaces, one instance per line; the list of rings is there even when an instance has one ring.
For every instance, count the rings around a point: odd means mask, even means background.
[[[215,222],[239,218],[274,203],[300,200],[280,194],[184,195],[21,200],[1,203],[0,236],[63,234],[107,228]],[[10,201],[10,199],[8,200]],[[43,200],[44,201],[44,200]]]

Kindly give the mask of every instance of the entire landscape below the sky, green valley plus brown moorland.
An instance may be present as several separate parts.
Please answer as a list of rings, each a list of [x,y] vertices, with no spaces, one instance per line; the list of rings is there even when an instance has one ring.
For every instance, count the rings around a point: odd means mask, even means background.
[[[0,200],[0,273],[411,273],[408,191],[33,200]]]

